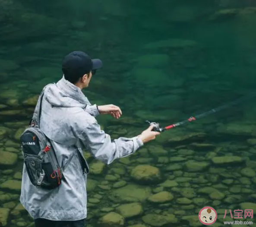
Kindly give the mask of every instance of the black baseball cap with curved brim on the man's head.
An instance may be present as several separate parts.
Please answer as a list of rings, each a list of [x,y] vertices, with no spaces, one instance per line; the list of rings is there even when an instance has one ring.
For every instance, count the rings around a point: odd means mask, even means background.
[[[91,59],[88,54],[82,51],[73,51],[67,54],[62,62],[63,73],[69,73],[76,76],[83,76],[90,71],[100,69],[102,61],[100,59]]]

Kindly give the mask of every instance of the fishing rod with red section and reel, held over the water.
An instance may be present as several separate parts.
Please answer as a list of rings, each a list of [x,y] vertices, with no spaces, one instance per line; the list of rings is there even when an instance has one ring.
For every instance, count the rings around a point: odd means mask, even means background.
[[[237,104],[239,104],[239,103],[241,103],[241,102],[243,102],[243,101],[245,101],[245,100],[247,100],[247,99],[253,98],[254,96],[256,96],[256,92],[253,92],[251,95],[248,95],[248,96],[239,98],[239,99],[237,99],[237,100],[235,100],[235,101],[226,103],[226,104],[224,104],[224,105],[222,105],[222,106],[220,106],[220,107],[214,108],[214,109],[209,110],[209,111],[207,111],[207,112],[204,112],[204,113],[202,113],[202,114],[196,115],[195,117],[192,116],[192,117],[190,117],[190,118],[188,118],[188,119],[186,119],[186,120],[183,120],[183,121],[180,121],[180,122],[177,122],[177,123],[174,123],[174,124],[171,124],[171,125],[162,127],[162,128],[160,127],[160,124],[157,123],[157,122],[150,122],[149,120],[146,120],[145,122],[146,122],[146,123],[149,123],[150,125],[153,125],[153,126],[154,126],[154,128],[153,128],[152,131],[155,131],[155,132],[164,132],[164,131],[166,131],[166,130],[168,130],[168,129],[172,129],[172,128],[175,128],[175,127],[177,127],[177,126],[183,125],[183,124],[185,124],[185,123],[189,123],[189,122],[191,122],[191,121],[198,120],[198,119],[203,118],[203,117],[206,117],[206,116],[208,116],[208,115],[210,115],[210,114],[215,114],[216,112],[218,112],[218,111],[220,111],[220,110],[224,110],[224,109],[227,109],[227,108],[229,108],[229,107],[231,107],[231,106],[237,105]]]

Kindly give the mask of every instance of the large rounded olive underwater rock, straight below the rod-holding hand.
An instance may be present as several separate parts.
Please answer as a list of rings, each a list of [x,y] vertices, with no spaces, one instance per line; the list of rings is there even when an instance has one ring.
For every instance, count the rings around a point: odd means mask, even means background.
[[[159,183],[161,181],[160,170],[150,165],[136,166],[131,171],[131,177],[139,183]]]

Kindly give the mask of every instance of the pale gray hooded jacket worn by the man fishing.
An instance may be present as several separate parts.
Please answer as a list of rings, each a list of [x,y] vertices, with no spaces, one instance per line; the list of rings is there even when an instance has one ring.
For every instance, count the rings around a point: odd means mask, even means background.
[[[40,100],[40,97],[39,97]],[[35,107],[38,113],[39,105]],[[133,154],[143,145],[138,137],[119,138],[111,142],[95,120],[99,114],[82,91],[64,77],[45,87],[40,128],[52,140],[58,162],[66,166],[62,184],[56,189],[32,185],[25,165],[20,201],[32,218],[54,221],[77,221],[87,216],[86,180],[88,165],[82,148],[106,163]]]

